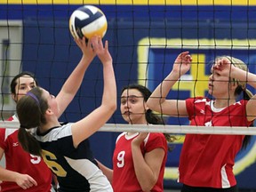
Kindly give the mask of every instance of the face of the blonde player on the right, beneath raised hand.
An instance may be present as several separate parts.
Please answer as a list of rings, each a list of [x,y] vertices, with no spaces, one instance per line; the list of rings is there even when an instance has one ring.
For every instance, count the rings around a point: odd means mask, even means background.
[[[218,60],[216,61],[218,62]],[[231,84],[229,83],[228,76],[221,76],[218,71],[214,70],[213,66],[211,68],[212,75],[209,76],[208,92],[215,98],[225,98],[230,97]]]

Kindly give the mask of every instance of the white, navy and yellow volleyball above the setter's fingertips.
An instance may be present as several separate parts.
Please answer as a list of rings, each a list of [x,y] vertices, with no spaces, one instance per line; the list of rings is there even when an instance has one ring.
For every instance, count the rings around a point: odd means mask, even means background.
[[[108,21],[105,14],[96,6],[84,5],[76,9],[69,19],[69,30],[74,38],[105,36]]]

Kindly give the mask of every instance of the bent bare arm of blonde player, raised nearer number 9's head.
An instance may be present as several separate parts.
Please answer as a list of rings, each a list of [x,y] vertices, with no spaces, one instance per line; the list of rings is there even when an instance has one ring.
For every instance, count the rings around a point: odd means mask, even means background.
[[[169,116],[187,116],[187,109],[184,100],[166,100],[168,92],[179,80],[180,76],[186,74],[190,68],[192,58],[189,52],[181,52],[174,61],[172,71],[152,92],[147,105],[152,110]]]

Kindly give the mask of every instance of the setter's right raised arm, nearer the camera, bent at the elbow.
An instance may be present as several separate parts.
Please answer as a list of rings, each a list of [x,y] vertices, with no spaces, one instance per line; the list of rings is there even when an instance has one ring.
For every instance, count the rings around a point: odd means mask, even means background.
[[[112,57],[108,52],[108,41],[106,41],[105,47],[102,44],[100,36],[93,36],[91,41],[93,50],[103,65],[103,95],[99,108],[94,109],[91,114],[72,125],[75,148],[81,141],[90,137],[101,126],[106,124],[108,119],[116,111],[116,78],[112,65]]]

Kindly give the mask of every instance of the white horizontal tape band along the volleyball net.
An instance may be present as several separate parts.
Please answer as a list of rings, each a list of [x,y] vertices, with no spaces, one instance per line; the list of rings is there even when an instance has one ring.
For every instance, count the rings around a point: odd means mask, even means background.
[[[0,127],[17,129],[20,127],[20,123],[0,121]],[[255,127],[192,126],[163,124],[105,124],[103,127],[100,128],[99,131],[256,135]]]

